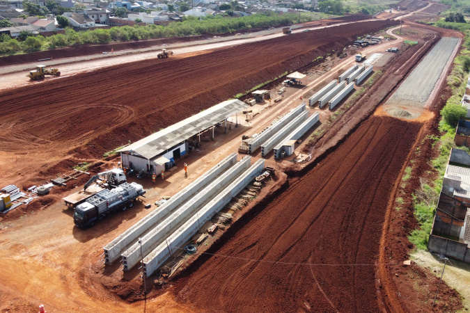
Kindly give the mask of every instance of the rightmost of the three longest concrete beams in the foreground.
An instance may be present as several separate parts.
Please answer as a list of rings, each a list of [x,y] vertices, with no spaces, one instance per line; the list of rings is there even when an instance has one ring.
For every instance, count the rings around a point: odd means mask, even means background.
[[[143,272],[144,275],[149,277],[152,275],[159,266],[162,266],[166,259],[171,257],[174,252],[182,249],[191,236],[198,231],[203,225],[210,220],[214,214],[220,211],[230,200],[235,197],[243,188],[245,188],[258,173],[265,168],[265,161],[259,159],[248,170],[246,170],[240,177],[221,191],[215,198],[210,200],[205,206],[200,209],[197,214],[194,214],[183,225],[178,227],[172,234],[166,237],[152,252],[150,252],[143,259]]]

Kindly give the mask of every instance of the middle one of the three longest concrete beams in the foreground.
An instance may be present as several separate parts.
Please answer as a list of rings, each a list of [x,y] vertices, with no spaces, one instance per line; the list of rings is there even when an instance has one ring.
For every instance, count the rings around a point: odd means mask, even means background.
[[[237,177],[249,168],[251,157],[244,157],[235,166],[229,168],[226,172],[221,173],[217,179],[214,179],[208,186],[199,191],[193,198],[187,200],[170,216],[160,220],[150,232],[141,238],[141,244],[134,243],[125,252],[123,252],[123,269],[129,271],[141,260],[142,255],[148,255],[156,246],[162,243],[169,232],[179,227],[182,223],[186,223],[195,211],[198,211],[205,203],[214,198],[221,190],[230,185]]]

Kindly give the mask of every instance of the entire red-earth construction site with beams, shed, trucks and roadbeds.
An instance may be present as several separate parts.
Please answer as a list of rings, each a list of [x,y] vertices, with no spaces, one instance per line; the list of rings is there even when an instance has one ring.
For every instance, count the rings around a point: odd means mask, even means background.
[[[464,310],[395,209],[464,34],[400,3],[1,57],[2,312]]]

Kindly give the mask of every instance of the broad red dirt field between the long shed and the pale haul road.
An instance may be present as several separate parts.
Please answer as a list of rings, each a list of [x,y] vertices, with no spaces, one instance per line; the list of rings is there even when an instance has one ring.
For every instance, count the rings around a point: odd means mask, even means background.
[[[361,22],[51,79],[0,93],[1,170],[9,183],[50,179],[70,157],[89,159],[331,53],[358,35],[395,25]],[[253,66],[256,65],[256,66]],[[17,157],[17,160],[15,159]],[[1,154],[0,154],[1,157]],[[47,175],[37,173],[37,169]],[[14,169],[14,170],[12,170]]]

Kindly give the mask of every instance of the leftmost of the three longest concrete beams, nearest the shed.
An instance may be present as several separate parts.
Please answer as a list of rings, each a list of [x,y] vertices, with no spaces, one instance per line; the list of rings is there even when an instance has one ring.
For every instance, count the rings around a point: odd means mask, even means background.
[[[182,202],[185,202],[188,198],[195,195],[202,188],[210,184],[216,179],[222,172],[237,163],[237,154],[233,153],[226,159],[222,160],[216,166],[205,172],[201,177],[196,179],[193,183],[189,184],[179,193],[175,194],[172,198],[162,204],[159,208],[152,211],[148,216],[142,218],[134,226],[120,234],[116,239],[111,241],[104,246],[104,257],[107,264],[111,264],[116,261],[121,253],[126,250],[132,243],[146,232],[150,227],[155,225],[159,220],[164,218],[167,214],[178,207]]]

